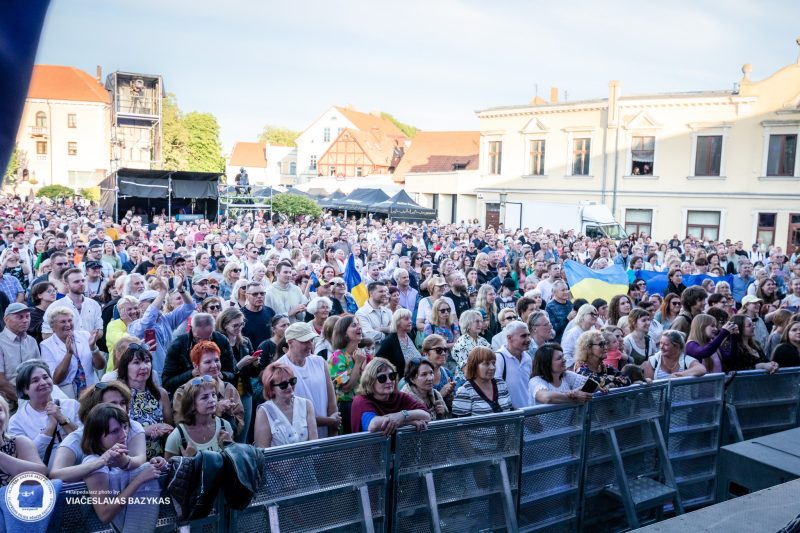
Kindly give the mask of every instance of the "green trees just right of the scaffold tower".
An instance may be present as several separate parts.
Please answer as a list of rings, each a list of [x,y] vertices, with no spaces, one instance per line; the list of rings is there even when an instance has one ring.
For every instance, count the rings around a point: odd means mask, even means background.
[[[219,123],[211,113],[184,114],[174,94],[162,106],[164,168],[195,172],[223,172],[225,158],[219,140]]]

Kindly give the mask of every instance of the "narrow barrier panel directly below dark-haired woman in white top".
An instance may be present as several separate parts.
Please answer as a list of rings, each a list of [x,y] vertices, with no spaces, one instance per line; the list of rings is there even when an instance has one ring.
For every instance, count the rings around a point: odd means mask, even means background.
[[[580,518],[586,405],[523,411],[520,531],[576,531]]]

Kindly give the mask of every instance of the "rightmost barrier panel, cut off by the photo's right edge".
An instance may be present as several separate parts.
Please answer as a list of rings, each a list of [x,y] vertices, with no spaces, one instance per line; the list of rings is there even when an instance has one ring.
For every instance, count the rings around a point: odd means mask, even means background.
[[[728,374],[725,442],[741,442],[800,425],[800,367]]]

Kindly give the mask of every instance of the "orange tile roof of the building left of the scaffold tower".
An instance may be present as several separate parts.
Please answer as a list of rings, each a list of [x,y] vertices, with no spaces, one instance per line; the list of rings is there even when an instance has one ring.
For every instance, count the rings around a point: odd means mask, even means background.
[[[108,104],[111,97],[97,79],[75,67],[34,65],[28,98]]]

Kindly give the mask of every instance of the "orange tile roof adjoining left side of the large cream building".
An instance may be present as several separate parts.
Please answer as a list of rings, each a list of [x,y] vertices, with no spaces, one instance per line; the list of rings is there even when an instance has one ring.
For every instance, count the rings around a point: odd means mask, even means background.
[[[411,140],[392,179],[405,183],[409,172],[452,172],[456,166],[477,170],[480,144],[477,131],[421,131]]]

